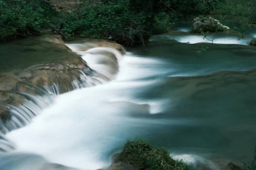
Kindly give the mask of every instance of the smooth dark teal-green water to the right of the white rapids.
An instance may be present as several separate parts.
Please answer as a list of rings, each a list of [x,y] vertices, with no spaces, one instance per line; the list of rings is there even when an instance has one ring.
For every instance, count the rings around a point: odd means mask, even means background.
[[[169,101],[151,119],[188,122],[153,125],[145,138],[179,154],[204,155],[224,168],[249,161],[256,146],[256,70],[245,71],[256,67],[256,49],[213,44],[208,52],[196,52],[206,45],[159,39],[133,49],[138,57],[162,61],[152,64],[158,69],[148,66],[156,75],[144,78],[159,83],[134,95]]]

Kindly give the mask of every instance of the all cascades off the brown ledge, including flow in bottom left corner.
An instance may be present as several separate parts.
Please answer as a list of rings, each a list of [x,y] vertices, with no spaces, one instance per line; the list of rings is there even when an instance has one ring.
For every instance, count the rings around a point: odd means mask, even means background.
[[[69,45],[68,45],[69,46]],[[70,45],[72,48],[72,45]],[[122,54],[112,48],[94,48],[87,51],[75,51],[78,52],[82,56],[82,58],[86,58],[86,60],[90,63],[93,69],[87,68],[84,69],[80,74],[80,79],[75,79],[72,82],[74,89],[79,89],[82,87],[92,87],[95,85],[99,85],[102,83],[106,83],[110,80],[113,80],[118,73],[119,65],[118,60],[121,60]],[[38,116],[43,109],[50,106],[54,102],[54,98],[60,95],[60,86],[58,83],[54,83],[52,86],[43,86],[43,89],[35,85],[29,84],[36,89],[38,92],[37,96],[19,93],[20,95],[25,96],[27,99],[24,100],[22,105],[12,106],[9,105],[7,107],[7,111],[11,115],[11,120],[3,123],[0,121],[1,131],[0,131],[0,150],[4,152],[10,152],[16,149],[16,146],[7,140],[4,134],[9,133],[15,129],[19,129],[24,127],[28,123],[31,123],[32,119]],[[68,89],[68,91],[70,91]],[[2,132],[4,134],[2,134]],[[11,159],[10,159],[11,157]],[[36,157],[36,158],[35,158]],[[35,170],[39,168],[40,170],[44,167],[46,169],[56,168],[56,169],[73,169],[68,168],[62,165],[49,163],[44,160],[43,157],[32,155],[32,154],[9,154],[9,153],[0,153],[0,159],[5,160],[1,161],[0,167],[1,169],[26,169],[27,166],[24,165],[24,162],[30,162],[34,160],[35,164],[32,166],[29,165],[29,168]],[[7,161],[10,159],[9,161]],[[13,164],[12,161],[15,161],[16,164],[10,166],[9,164]],[[31,164],[31,163],[29,163]],[[37,164],[37,165],[36,165]],[[35,166],[34,166],[35,165]]]

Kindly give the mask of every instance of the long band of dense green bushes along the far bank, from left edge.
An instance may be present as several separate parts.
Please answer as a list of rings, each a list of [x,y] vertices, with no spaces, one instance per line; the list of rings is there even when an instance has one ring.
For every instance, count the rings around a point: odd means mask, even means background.
[[[204,0],[109,0],[96,4],[86,1],[76,12],[54,11],[43,0],[1,0],[0,40],[42,34],[50,27],[66,38],[109,38],[122,44],[144,43],[152,34],[189,15],[207,14],[213,9]]]

